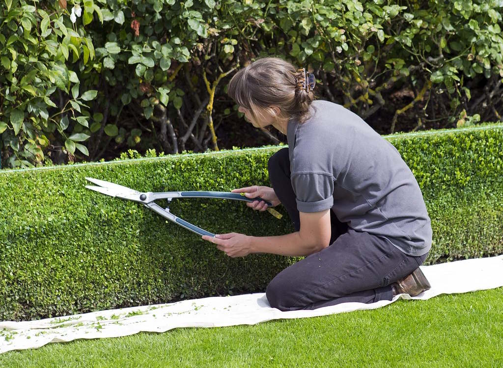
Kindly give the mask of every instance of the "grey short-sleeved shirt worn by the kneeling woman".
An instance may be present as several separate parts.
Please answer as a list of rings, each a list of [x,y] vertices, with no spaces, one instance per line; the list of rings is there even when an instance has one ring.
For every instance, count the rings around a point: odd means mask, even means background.
[[[421,189],[398,150],[358,115],[314,101],[308,120],[288,122],[292,187],[300,212],[330,209],[341,222],[409,255],[432,246]]]

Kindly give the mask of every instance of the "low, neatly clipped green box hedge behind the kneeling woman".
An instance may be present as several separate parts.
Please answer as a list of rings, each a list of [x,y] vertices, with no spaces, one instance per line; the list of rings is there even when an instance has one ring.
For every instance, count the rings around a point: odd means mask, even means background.
[[[434,230],[427,262],[503,252],[503,125],[386,136],[412,169]],[[263,291],[294,258],[229,258],[141,205],[84,188],[86,176],[139,191],[269,185],[281,147],[0,171],[0,318],[29,320],[183,298]],[[279,235],[244,203],[174,200],[207,230]]]

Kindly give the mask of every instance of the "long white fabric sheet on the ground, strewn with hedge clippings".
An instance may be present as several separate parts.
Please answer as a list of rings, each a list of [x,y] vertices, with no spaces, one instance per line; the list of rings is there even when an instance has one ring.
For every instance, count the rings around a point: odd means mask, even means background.
[[[164,332],[178,327],[253,325],[273,319],[324,316],[375,309],[398,299],[426,300],[439,294],[466,293],[503,286],[503,255],[421,266],[432,288],[416,297],[396,296],[372,304],[344,303],[316,310],[281,312],[265,293],[211,297],[107,310],[39,321],[0,322],[0,353],[37,348],[50,342],[119,337],[140,331]]]

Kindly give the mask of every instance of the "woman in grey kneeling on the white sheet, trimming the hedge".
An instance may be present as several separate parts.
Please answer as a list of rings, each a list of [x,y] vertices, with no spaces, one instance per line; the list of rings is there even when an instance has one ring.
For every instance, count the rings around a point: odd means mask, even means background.
[[[430,285],[419,266],[432,229],[417,181],[400,153],[344,107],[314,101],[314,76],[279,58],[239,70],[228,86],[256,128],[272,125],[288,148],[269,159],[272,188],[235,189],[285,206],[295,232],[253,237],[203,236],[231,257],[250,253],[306,256],[267,287],[272,307],[315,309],[411,296]],[[265,211],[264,201],[249,207]]]

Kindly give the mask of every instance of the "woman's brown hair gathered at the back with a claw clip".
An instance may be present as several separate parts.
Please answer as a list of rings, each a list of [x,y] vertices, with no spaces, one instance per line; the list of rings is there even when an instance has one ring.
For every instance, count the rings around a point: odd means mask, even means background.
[[[309,105],[315,99],[312,90],[302,88],[305,75],[291,63],[277,58],[260,58],[240,69],[229,82],[227,94],[257,118],[260,110],[278,106],[284,118],[308,118]],[[307,88],[309,89],[309,88]]]

